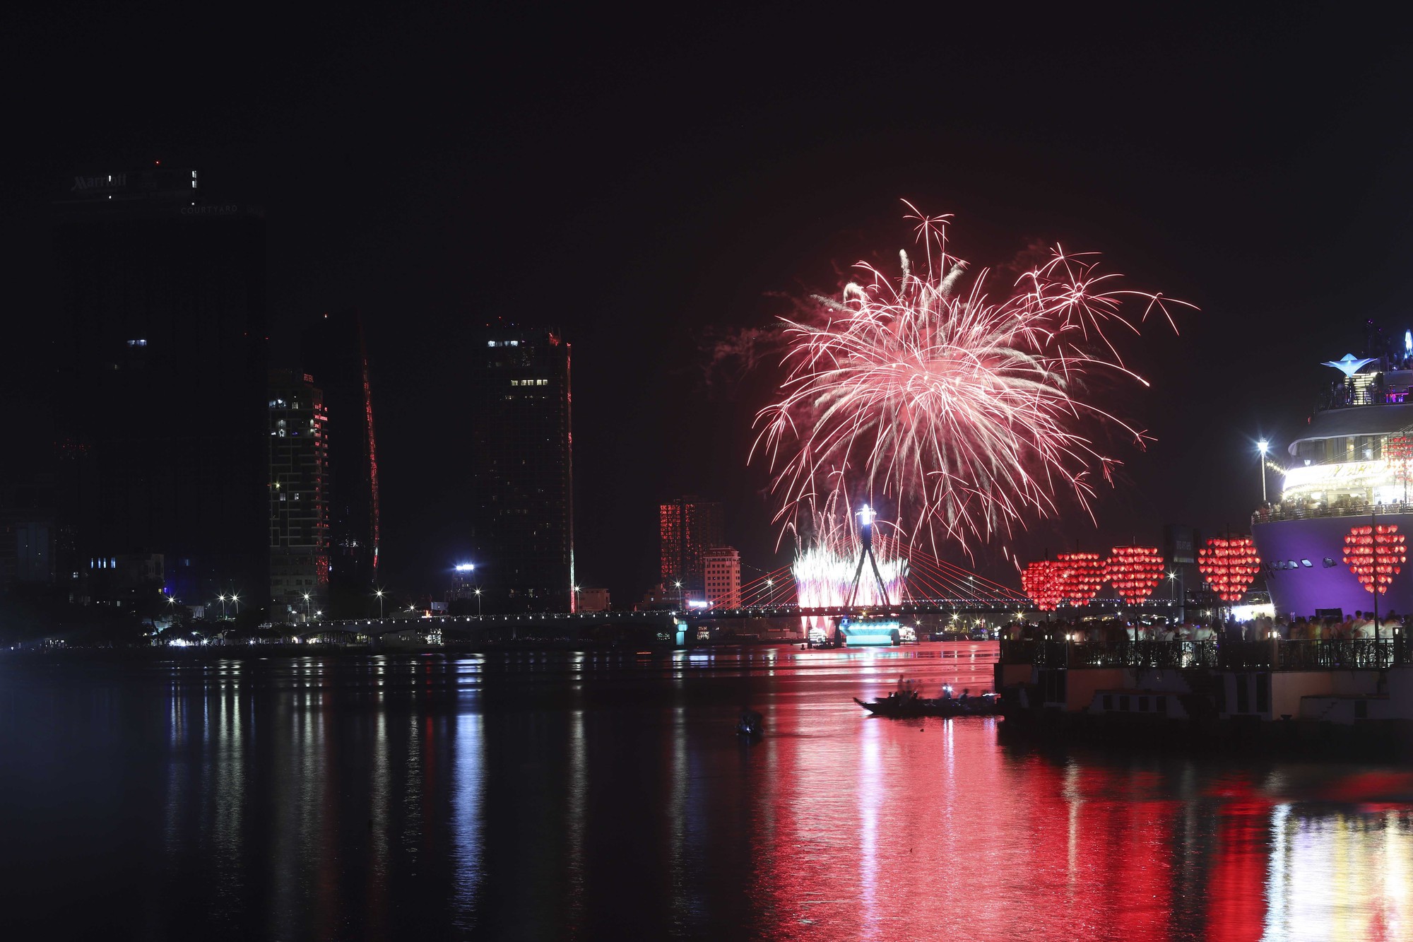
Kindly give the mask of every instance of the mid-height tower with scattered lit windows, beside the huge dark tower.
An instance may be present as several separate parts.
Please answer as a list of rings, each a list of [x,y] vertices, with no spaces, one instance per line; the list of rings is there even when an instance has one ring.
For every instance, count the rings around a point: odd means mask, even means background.
[[[324,393],[309,375],[270,371],[271,617],[308,621],[328,610],[329,474]]]

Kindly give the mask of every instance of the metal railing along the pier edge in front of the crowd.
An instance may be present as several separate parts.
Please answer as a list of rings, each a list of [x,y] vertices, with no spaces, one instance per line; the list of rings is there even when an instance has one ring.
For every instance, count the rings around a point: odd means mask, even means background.
[[[1000,663],[1184,670],[1381,670],[1413,663],[1402,636],[1331,641],[1002,639]]]

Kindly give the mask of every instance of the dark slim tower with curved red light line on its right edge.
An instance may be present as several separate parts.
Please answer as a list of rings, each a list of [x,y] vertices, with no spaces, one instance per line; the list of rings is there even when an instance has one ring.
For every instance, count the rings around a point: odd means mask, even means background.
[[[377,583],[380,518],[377,438],[367,348],[357,311],[318,318],[300,342],[304,372],[324,392],[329,475],[329,612],[333,618],[369,614]]]

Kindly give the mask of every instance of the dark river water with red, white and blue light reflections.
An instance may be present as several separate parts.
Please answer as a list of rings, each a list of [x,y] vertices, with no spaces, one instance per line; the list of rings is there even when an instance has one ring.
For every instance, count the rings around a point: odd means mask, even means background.
[[[1413,938],[1407,769],[851,702],[981,692],[993,656],[4,659],[4,935]]]

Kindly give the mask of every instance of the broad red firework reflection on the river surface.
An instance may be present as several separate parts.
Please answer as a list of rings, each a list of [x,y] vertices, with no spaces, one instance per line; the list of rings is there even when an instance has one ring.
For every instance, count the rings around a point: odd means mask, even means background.
[[[879,690],[890,675],[879,666]],[[780,700],[767,726],[797,734],[770,741],[770,774],[755,779],[763,936],[1191,938],[1173,928],[1184,803],[1159,774],[1016,757],[982,717]],[[1241,867],[1222,878],[1259,907],[1262,866]],[[1260,909],[1234,907],[1241,931],[1218,938],[1259,935]]]

